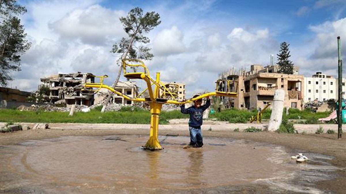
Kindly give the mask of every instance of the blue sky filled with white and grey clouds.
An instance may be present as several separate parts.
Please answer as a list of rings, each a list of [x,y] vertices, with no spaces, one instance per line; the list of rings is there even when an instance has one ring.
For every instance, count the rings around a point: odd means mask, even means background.
[[[119,17],[137,6],[159,13],[162,21],[147,35],[154,54],[149,70],[161,72],[163,81],[185,82],[188,97],[214,90],[224,70],[269,64],[283,41],[290,44],[291,60],[305,76],[316,71],[337,75],[337,36],[346,55],[344,0],[19,3],[28,10],[22,22],[32,47],[9,86],[25,91],[37,89],[40,77],[76,71],[107,74],[111,83],[119,67],[118,56],[109,51],[126,36]]]

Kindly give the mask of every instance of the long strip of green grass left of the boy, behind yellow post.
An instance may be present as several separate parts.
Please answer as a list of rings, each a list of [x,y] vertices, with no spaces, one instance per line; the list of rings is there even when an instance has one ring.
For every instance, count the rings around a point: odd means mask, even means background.
[[[114,112],[100,113],[98,110],[90,112],[75,112],[72,117],[69,112],[19,111],[0,109],[0,122],[48,122],[48,123],[132,123],[150,124],[150,112],[144,109],[127,111],[122,109]],[[188,118],[188,114],[180,111],[163,111],[160,114],[160,124],[168,124],[169,119]]]

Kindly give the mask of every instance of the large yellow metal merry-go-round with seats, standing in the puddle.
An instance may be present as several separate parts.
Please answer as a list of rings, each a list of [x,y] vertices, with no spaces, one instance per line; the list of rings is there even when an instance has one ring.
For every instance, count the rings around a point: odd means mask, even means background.
[[[128,72],[127,68],[130,67],[130,69],[135,70],[135,72]],[[97,92],[101,88],[106,88],[122,97],[124,97],[127,100],[131,101],[137,101],[137,102],[149,102],[150,105],[150,113],[151,113],[151,121],[150,121],[150,137],[147,143],[145,144],[144,148],[149,150],[156,150],[156,149],[162,149],[160,142],[157,139],[158,136],[158,121],[159,121],[159,114],[161,113],[162,104],[164,103],[170,103],[170,104],[185,104],[189,103],[198,99],[206,98],[207,96],[217,95],[217,96],[229,96],[229,97],[236,97],[237,93],[235,92],[209,92],[206,94],[202,94],[198,96],[197,98],[191,98],[185,101],[177,101],[176,100],[176,92],[172,91],[172,87],[169,85],[163,84],[160,81],[160,73],[156,73],[156,79],[154,80],[149,73],[148,68],[146,65],[140,60],[140,59],[122,59],[122,68],[124,70],[124,76],[128,79],[142,79],[146,82],[147,88],[143,90],[141,93],[138,94],[136,98],[132,98],[126,94],[123,94],[119,91],[116,91],[114,88],[103,84],[104,78],[107,77],[107,75],[103,76],[95,76],[100,78],[100,83],[85,83],[83,85],[82,90],[83,91],[93,91]],[[136,68],[143,68],[142,71],[137,72],[138,70]],[[152,86],[155,85],[154,89]],[[92,88],[92,89],[89,89]],[[93,89],[95,88],[95,89]],[[162,90],[162,95],[170,96],[170,99],[162,98],[163,96],[160,96],[160,90]],[[140,98],[140,96],[145,92],[148,91],[149,98]]]

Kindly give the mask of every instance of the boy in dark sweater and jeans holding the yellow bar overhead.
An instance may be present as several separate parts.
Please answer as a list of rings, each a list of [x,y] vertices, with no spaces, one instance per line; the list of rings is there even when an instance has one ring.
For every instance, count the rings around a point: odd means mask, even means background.
[[[198,97],[199,95],[194,95],[193,98]],[[184,114],[190,114],[189,120],[189,130],[190,130],[190,144],[188,147],[202,147],[203,138],[201,125],[203,122],[203,112],[210,106],[209,96],[207,97],[207,103],[202,104],[202,99],[195,100],[194,105],[185,109],[185,104],[181,105],[181,112]],[[186,147],[186,148],[188,148]]]

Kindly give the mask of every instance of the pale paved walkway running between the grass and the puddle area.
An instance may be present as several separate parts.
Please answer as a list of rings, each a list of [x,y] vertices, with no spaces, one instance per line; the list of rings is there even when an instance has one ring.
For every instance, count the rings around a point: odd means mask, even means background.
[[[0,122],[0,127],[3,127],[6,123]],[[30,127],[31,129],[44,129],[45,123],[20,123],[23,129]],[[215,131],[234,131],[239,128],[239,131],[243,131],[248,127],[256,127],[265,129],[268,124],[257,124],[257,123],[226,123],[226,122],[215,122],[214,124],[203,124],[202,130],[215,130]],[[326,132],[328,129],[337,132],[337,124],[294,124],[295,130],[298,133],[305,131],[306,133],[315,133],[319,127],[324,129]],[[121,124],[121,123],[49,123],[50,129],[114,129],[114,130],[149,130],[149,124]],[[188,124],[161,124],[160,130],[188,130]],[[346,124],[343,124],[343,131],[346,131]]]

